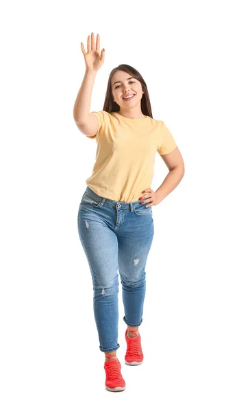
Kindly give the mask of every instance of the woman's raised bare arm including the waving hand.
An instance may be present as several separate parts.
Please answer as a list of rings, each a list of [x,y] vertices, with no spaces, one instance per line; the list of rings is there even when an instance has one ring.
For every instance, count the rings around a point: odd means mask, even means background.
[[[90,36],[88,36],[88,52],[85,52],[82,42],[81,47],[86,62],[86,72],[75,100],[73,117],[77,127],[84,135],[93,136],[97,133],[99,122],[97,117],[90,113],[91,95],[95,83],[95,76],[97,76],[97,71],[104,62],[104,49],[102,49],[100,54],[100,37],[99,34],[97,34],[97,44],[95,45],[95,36],[93,33],[91,34],[91,46]]]

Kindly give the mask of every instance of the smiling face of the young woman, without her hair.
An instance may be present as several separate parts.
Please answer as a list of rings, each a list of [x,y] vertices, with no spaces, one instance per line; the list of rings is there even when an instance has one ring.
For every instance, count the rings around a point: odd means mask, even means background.
[[[142,84],[136,78],[133,78],[129,73],[123,70],[117,70],[112,77],[112,93],[114,102],[120,109],[125,111],[130,108],[140,108],[140,100],[142,99],[143,91]],[[124,99],[126,96],[133,95],[133,98]]]

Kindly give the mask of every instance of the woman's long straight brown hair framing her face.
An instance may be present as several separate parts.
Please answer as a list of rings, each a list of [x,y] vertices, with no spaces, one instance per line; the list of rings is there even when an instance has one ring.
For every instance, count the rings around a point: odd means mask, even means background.
[[[118,106],[118,104],[114,102],[114,95],[112,93],[112,83],[111,83],[112,76],[117,70],[126,71],[127,73],[130,74],[130,76],[133,76],[136,80],[138,80],[142,84],[142,91],[144,91],[144,93],[142,94],[142,100],[140,103],[141,111],[144,115],[147,115],[153,118],[152,111],[151,111],[151,104],[149,100],[149,92],[147,91],[147,84],[145,80],[142,78],[142,75],[136,69],[134,69],[134,67],[129,66],[129,65],[118,65],[118,67],[115,67],[110,72],[110,77],[108,78],[108,87],[107,87],[107,91],[105,94],[105,101],[103,104],[103,111],[111,113],[111,112],[118,112],[120,110],[120,106]]]

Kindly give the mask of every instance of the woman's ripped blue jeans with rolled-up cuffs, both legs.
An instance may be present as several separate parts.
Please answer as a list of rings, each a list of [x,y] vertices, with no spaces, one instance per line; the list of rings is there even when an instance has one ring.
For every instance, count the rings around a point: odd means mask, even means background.
[[[145,266],[154,228],[152,207],[140,202],[112,201],[87,186],[79,205],[78,233],[92,275],[94,316],[101,352],[120,347],[117,270],[123,292],[123,320],[131,326],[142,323]]]

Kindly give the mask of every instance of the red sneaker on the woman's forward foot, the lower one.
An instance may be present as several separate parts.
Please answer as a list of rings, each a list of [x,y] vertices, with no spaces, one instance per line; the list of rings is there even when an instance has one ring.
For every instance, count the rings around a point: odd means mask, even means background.
[[[107,358],[114,358],[114,356],[107,354],[105,356],[107,356]],[[116,358],[114,361],[105,362],[104,369],[106,373],[105,388],[112,392],[124,391],[126,383],[123,376],[121,376],[121,363],[118,359]]]

